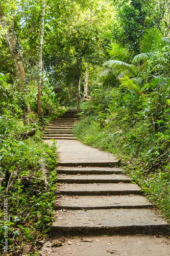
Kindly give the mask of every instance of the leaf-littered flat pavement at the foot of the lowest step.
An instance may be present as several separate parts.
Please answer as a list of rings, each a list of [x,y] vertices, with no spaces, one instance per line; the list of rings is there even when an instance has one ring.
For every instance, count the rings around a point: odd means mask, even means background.
[[[108,233],[108,232],[107,232]],[[82,242],[82,237],[84,241]],[[62,241],[62,238],[61,238]],[[70,245],[71,241],[71,245]],[[91,242],[88,242],[91,241]],[[42,256],[169,256],[170,246],[167,237],[137,234],[136,236],[71,236],[66,238],[62,246],[54,249],[56,239],[45,242],[41,249]],[[69,245],[68,245],[69,242]],[[61,242],[60,242],[61,243]],[[70,253],[73,252],[73,253]],[[112,251],[109,253],[109,251]]]

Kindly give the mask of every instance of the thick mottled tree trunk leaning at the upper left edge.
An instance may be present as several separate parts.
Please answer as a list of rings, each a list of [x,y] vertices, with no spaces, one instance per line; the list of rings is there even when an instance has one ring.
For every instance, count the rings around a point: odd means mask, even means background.
[[[7,32],[4,35],[8,44],[8,49],[11,53],[12,59],[14,60],[14,74],[16,79],[18,80],[17,88],[22,89],[23,83],[26,78],[25,68],[23,66],[23,61],[21,57],[21,51],[19,47],[19,43],[16,40],[13,29],[10,28],[9,22],[5,18],[5,13],[3,8],[0,5],[0,23],[3,28],[7,28]]]

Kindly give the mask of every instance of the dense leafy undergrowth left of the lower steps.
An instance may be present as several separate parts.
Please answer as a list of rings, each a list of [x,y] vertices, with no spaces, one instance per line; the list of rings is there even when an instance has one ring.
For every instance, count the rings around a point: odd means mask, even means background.
[[[57,144],[54,141],[49,146],[41,141],[42,128],[38,122],[24,124],[17,115],[1,115],[0,120],[0,177],[10,175],[8,184],[3,182],[0,187],[0,251],[21,255],[23,248],[29,248],[29,255],[38,255],[50,234],[54,216]],[[19,134],[27,131],[28,125],[29,130],[34,127],[36,135],[21,140]],[[8,190],[16,170],[17,179]],[[30,177],[29,184],[22,183],[23,176]]]

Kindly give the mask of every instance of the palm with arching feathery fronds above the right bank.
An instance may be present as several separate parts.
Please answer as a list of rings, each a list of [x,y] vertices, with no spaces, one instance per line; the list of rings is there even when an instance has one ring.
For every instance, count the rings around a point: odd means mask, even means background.
[[[154,65],[153,59],[166,44],[169,44],[168,38],[163,38],[158,29],[150,28],[140,40],[139,49],[141,53],[136,55],[132,61],[128,59],[126,49],[119,47],[117,44],[111,44],[108,53],[114,59],[104,63],[107,69],[103,71],[102,75],[108,80],[108,75],[112,74],[118,79],[120,87],[136,96],[143,97],[146,84],[152,78],[161,78],[155,77],[151,72]],[[125,62],[125,60],[129,61]]]

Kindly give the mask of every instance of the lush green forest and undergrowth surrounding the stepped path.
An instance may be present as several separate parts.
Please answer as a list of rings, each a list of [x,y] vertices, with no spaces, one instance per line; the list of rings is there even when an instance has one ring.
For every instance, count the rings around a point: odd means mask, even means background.
[[[47,255],[60,147],[43,136],[71,110],[170,221],[169,36],[169,0],[0,0],[0,254]]]

